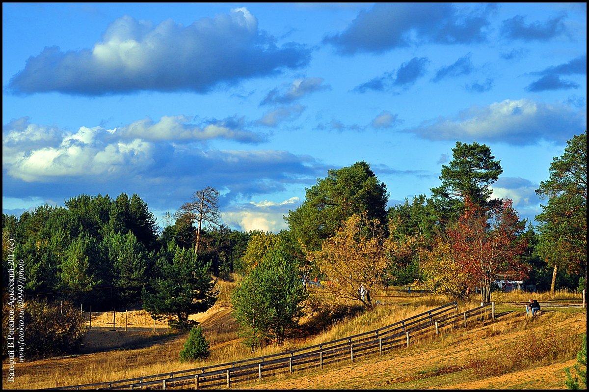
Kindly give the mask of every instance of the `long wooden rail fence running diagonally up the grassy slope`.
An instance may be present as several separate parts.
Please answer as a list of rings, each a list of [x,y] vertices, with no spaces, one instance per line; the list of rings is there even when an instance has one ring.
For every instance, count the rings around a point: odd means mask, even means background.
[[[280,374],[322,369],[342,361],[354,362],[368,355],[383,355],[409,347],[412,342],[435,337],[442,328],[466,328],[471,322],[485,318],[495,318],[494,302],[459,312],[454,301],[378,330],[284,353],[127,380],[51,389],[230,388],[243,383],[262,382]]]

